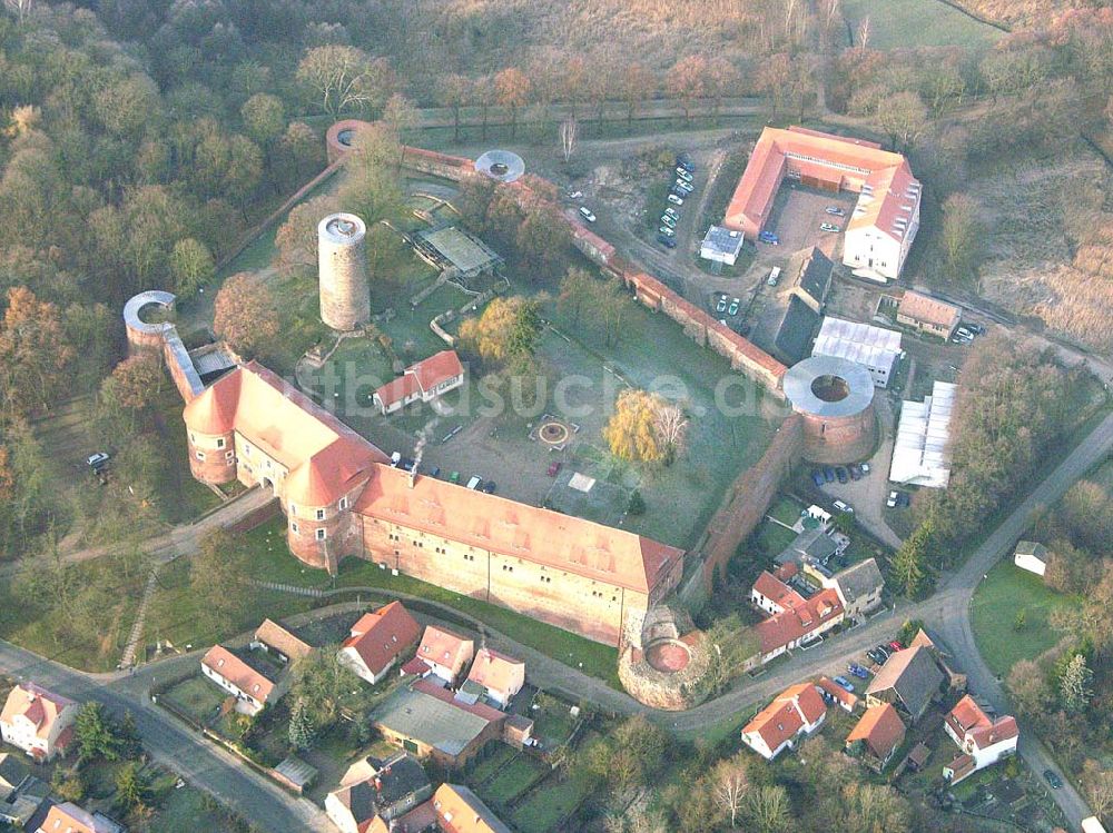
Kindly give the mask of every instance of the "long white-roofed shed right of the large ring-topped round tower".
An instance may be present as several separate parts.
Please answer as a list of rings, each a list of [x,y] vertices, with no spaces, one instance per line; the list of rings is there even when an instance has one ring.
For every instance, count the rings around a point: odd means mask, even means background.
[[[924,401],[906,399],[893,446],[889,479],[914,486],[942,488],[951,482],[951,415],[958,388],[936,381]]]

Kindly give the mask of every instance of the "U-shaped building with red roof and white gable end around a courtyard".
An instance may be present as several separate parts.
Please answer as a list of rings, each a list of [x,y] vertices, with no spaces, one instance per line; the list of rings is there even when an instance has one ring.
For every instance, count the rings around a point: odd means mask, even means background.
[[[864,139],[801,127],[767,127],[727,207],[723,226],[751,240],[772,214],[785,178],[858,195],[843,236],[843,262],[859,277],[895,280],[919,230],[922,185],[900,155]]]

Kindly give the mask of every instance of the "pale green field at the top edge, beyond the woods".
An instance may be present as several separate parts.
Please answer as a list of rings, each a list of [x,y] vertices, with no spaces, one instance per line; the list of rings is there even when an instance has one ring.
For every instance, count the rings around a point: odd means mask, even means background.
[[[976,48],[988,46],[1003,32],[963,14],[939,0],[845,0],[843,16],[854,30],[869,18],[869,46]]]

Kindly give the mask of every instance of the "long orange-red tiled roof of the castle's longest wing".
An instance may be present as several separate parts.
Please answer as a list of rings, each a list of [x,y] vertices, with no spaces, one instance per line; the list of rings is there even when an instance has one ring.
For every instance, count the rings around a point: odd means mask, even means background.
[[[355,510],[414,529],[650,593],[683,551],[624,529],[377,466]]]

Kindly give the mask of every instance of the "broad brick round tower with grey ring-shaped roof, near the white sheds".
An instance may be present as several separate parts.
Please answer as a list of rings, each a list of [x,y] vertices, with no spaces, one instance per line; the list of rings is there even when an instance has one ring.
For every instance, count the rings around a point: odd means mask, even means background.
[[[854,463],[877,442],[874,380],[857,361],[812,356],[789,368],[782,383],[792,410],[804,417],[804,458]]]

